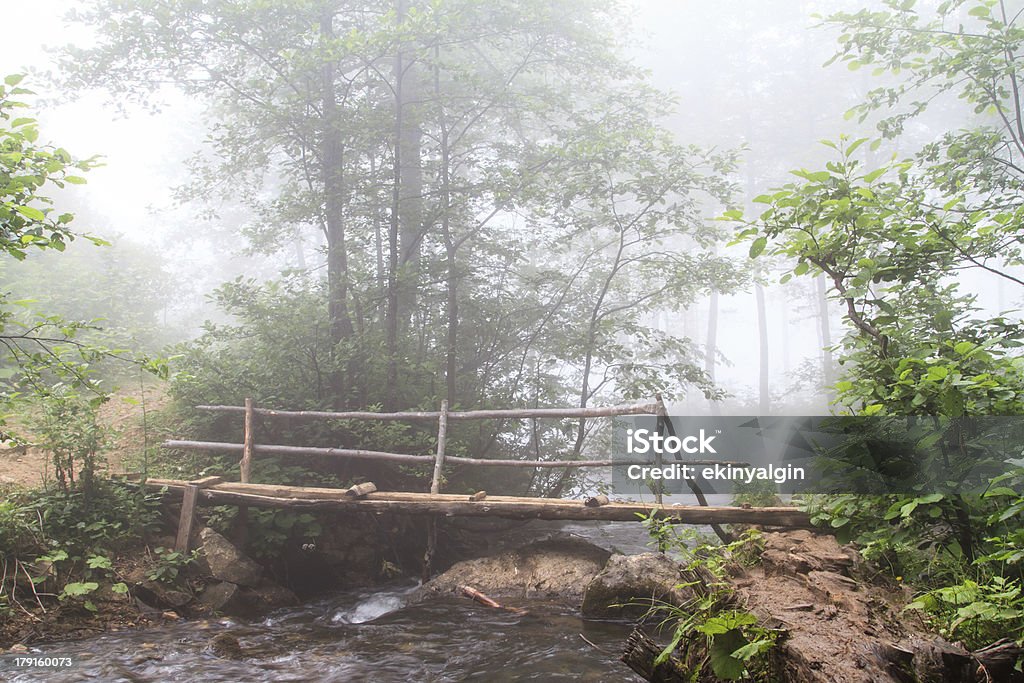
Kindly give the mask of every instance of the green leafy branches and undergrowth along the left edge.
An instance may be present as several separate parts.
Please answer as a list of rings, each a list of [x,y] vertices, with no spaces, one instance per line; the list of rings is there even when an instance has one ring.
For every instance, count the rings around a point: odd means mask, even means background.
[[[49,186],[81,184],[75,175],[96,165],[76,161],[66,150],[38,142],[39,130],[28,116],[14,118],[31,94],[18,87],[20,76],[0,85],[0,253],[25,260],[30,251],[62,252],[79,236],[73,216],[58,214],[43,193]],[[84,236],[95,245],[102,240]],[[88,288],[83,288],[88,289]],[[29,302],[14,301],[19,308]],[[127,490],[97,477],[106,430],[96,421],[96,408],[106,398],[93,377],[95,364],[122,355],[86,343],[76,335],[90,326],[51,314],[23,314],[0,296],[0,400],[29,407],[29,420],[39,444],[49,451],[55,489],[15,493],[0,502],[0,560],[5,578],[37,575],[26,588],[17,581],[0,583],[0,612],[30,590],[35,601],[56,596],[60,602],[96,611],[89,599],[115,579],[111,553],[131,537],[151,530],[158,501],[138,489]],[[143,365],[143,364],[139,364]],[[159,364],[147,362],[157,369]],[[136,536],[137,538],[137,536]],[[123,582],[114,584],[124,593]],[[38,587],[48,589],[40,594]],[[24,608],[23,608],[24,609]]]

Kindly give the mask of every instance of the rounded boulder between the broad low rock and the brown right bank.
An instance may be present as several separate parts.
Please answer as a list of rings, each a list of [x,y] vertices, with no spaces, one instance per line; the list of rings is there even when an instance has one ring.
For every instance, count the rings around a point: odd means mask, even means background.
[[[692,597],[677,562],[658,553],[612,555],[600,573],[587,586],[584,616],[636,618],[654,601],[682,605]]]

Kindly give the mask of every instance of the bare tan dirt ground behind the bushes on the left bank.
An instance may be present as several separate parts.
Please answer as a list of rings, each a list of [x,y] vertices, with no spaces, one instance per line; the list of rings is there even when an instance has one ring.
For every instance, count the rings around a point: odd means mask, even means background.
[[[167,386],[150,382],[142,387],[120,389],[99,408],[99,423],[111,430],[109,450],[104,454],[105,472],[122,474],[136,471],[146,449],[156,444],[146,418],[170,402]],[[49,482],[52,476],[50,454],[34,445],[26,420],[17,416],[9,420],[11,431],[29,441],[28,445],[0,446],[0,486],[14,484],[36,488]]]

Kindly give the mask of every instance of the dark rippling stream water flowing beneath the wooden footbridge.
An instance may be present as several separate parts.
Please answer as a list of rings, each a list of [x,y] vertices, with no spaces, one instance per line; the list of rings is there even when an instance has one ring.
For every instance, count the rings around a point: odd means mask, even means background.
[[[618,552],[645,550],[636,523],[573,523],[562,530]],[[628,623],[583,620],[575,609],[546,601],[509,601],[525,614],[457,596],[416,602],[415,589],[406,583],[347,591],[254,622],[178,622],[46,645],[39,655],[72,657],[74,668],[23,670],[8,680],[640,680],[617,661]],[[220,633],[238,638],[242,658],[212,651],[210,640]]]

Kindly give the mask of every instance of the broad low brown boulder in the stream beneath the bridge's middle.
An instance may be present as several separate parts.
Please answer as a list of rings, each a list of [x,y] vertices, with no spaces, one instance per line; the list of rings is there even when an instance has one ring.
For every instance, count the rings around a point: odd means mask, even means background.
[[[537,597],[579,604],[610,553],[572,537],[535,542],[490,557],[458,562],[421,589],[458,593],[469,585],[492,596]]]

